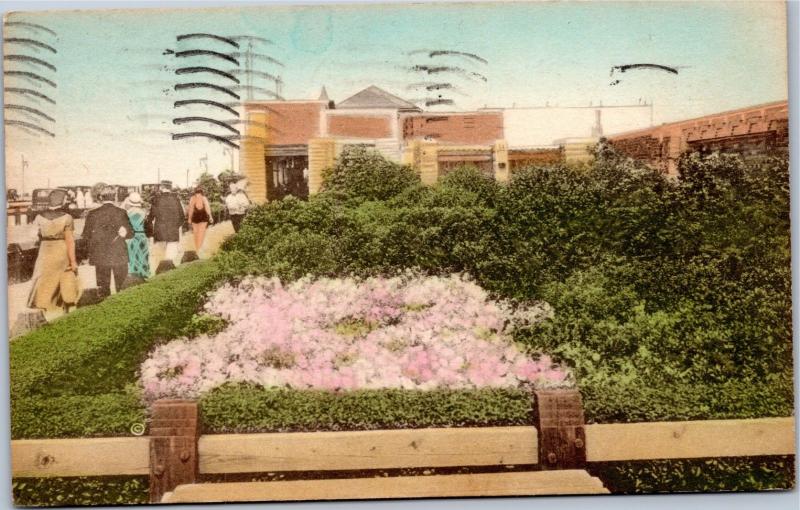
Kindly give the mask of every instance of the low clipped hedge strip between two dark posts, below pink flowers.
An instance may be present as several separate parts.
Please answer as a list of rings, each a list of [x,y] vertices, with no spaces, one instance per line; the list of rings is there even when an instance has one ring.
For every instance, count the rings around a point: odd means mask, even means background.
[[[314,390],[224,386],[200,399],[204,433],[476,427],[533,423],[520,389]]]

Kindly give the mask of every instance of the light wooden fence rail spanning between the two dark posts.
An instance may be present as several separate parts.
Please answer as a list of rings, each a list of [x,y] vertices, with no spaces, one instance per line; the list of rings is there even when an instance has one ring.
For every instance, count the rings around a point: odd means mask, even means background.
[[[536,464],[534,427],[202,436],[200,473]]]

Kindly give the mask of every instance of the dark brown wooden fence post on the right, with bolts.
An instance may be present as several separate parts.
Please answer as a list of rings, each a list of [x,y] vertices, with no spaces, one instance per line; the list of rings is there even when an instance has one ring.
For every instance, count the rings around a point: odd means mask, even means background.
[[[581,394],[578,390],[537,390],[534,396],[541,469],[585,468]]]

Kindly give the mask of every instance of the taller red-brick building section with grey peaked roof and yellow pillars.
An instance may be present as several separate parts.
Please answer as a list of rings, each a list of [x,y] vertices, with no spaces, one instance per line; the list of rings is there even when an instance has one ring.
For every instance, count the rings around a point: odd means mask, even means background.
[[[469,163],[507,179],[500,110],[430,113],[378,87],[334,104],[318,100],[245,104],[247,133],[241,169],[254,201],[307,196],[322,185],[322,170],[348,145],[371,147],[391,161],[413,165],[433,183]]]

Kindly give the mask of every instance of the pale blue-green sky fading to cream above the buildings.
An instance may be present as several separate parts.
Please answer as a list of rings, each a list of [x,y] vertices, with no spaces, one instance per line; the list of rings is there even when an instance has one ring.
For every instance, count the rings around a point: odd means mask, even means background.
[[[171,123],[173,102],[197,94],[171,90],[180,81],[176,61],[188,65],[189,59],[162,53],[188,49],[176,42],[188,32],[271,39],[274,44],[259,51],[284,67],[262,69],[281,75],[290,99],[315,98],[325,85],[330,97],[341,101],[371,84],[417,97],[406,87],[426,78],[407,68],[436,63],[424,54],[408,55],[421,49],[470,52],[488,61],[442,61],[487,78],[485,83],[455,79],[460,108],[646,100],[654,103],[660,123],[787,97],[782,3],[280,6],[37,12],[9,19],[46,25],[58,34],[39,37],[57,47],[57,55],[37,54],[58,67],[51,73],[58,87],[50,89],[58,104],[42,105],[56,119],[51,124],[56,137],[6,128],[7,185],[20,187],[24,155],[26,190],[47,185],[48,179],[52,185],[136,184],[159,174],[184,184],[187,170],[190,180],[199,175],[206,155],[214,173],[229,166],[230,154],[219,143],[170,137],[183,130]],[[6,33],[30,35],[36,34],[19,28]],[[221,49],[214,42],[195,41],[191,47]],[[11,50],[20,48],[5,45],[5,53]],[[193,64],[210,63],[201,60]],[[677,66],[679,74],[642,70],[610,76],[612,66],[642,62]],[[611,85],[616,79],[620,82]],[[12,80],[21,79],[7,77],[5,86],[19,86]],[[204,81],[225,84],[222,78]],[[16,98],[6,94],[5,99]]]

